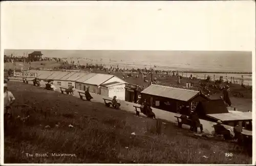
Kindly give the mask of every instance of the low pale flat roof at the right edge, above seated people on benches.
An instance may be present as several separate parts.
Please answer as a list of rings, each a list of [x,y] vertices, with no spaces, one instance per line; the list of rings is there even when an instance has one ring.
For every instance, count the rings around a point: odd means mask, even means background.
[[[251,112],[240,112],[236,111],[232,113],[222,114],[207,114],[206,116],[221,120],[221,121],[235,121],[235,120],[252,120]]]

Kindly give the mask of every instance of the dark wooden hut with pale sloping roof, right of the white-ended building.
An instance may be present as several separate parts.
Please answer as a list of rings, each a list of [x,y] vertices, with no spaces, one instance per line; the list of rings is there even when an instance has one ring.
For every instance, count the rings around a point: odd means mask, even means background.
[[[147,100],[154,108],[189,115],[200,101],[210,100],[199,91],[151,85],[141,92],[142,100]]]

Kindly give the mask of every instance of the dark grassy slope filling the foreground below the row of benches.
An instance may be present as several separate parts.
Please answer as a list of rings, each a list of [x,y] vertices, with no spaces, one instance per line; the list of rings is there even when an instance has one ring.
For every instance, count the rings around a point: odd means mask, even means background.
[[[15,108],[15,117],[30,117],[9,124],[5,163],[251,163],[251,157],[232,151],[232,144],[190,137],[172,123],[157,135],[156,120],[20,82],[8,84],[15,105],[28,106]],[[230,152],[233,156],[225,157]],[[27,157],[26,153],[76,157]]]

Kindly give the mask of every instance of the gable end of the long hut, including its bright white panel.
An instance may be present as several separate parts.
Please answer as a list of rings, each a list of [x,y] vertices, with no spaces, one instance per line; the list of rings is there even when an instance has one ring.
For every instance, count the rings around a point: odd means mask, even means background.
[[[124,82],[109,82],[100,85],[99,94],[113,98],[117,97],[119,100],[125,100],[125,83]]]

